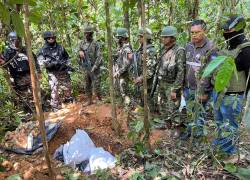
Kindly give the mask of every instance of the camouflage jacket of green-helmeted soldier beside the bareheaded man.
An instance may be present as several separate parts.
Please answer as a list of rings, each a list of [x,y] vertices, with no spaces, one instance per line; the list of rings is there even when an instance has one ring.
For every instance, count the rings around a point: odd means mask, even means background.
[[[171,83],[173,91],[180,90],[184,82],[185,61],[184,48],[176,44],[172,48],[163,51],[158,64],[158,79],[160,83]]]

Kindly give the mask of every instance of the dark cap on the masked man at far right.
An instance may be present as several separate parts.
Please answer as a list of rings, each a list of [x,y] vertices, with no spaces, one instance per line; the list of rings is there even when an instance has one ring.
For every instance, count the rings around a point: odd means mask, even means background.
[[[239,31],[245,29],[245,27],[246,27],[246,20],[242,16],[231,16],[222,25],[222,29],[225,31],[230,31],[232,29]]]

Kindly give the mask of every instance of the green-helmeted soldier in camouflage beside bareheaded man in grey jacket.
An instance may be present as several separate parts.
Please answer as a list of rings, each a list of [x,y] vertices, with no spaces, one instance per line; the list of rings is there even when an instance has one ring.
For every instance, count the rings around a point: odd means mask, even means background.
[[[184,82],[185,50],[176,44],[177,29],[165,27],[161,32],[165,46],[157,66],[160,116],[169,125],[180,125],[179,106]]]

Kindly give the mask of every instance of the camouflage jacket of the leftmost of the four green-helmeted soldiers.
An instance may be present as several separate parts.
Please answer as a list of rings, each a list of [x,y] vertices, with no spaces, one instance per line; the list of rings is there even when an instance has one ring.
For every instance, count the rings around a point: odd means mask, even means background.
[[[79,51],[87,52],[92,71],[97,72],[100,70],[100,66],[103,63],[103,57],[100,44],[97,41],[88,42],[83,40],[79,45]]]

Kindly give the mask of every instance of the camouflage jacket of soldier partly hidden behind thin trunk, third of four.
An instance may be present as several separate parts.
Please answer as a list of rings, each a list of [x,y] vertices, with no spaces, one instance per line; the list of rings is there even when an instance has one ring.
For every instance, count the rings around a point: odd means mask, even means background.
[[[147,53],[147,79],[149,80],[153,79],[156,68],[157,52],[154,45],[148,44],[146,53]],[[141,46],[136,51],[138,76],[142,76],[143,74],[142,54],[143,54],[143,46]],[[133,68],[135,68],[134,63],[133,63]]]

